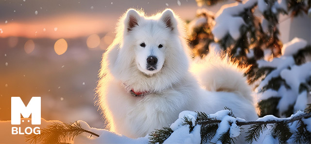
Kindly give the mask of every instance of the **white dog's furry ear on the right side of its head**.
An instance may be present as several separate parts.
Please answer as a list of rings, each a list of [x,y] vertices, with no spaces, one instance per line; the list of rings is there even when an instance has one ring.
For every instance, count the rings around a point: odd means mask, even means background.
[[[174,13],[171,9],[164,10],[160,20],[163,21],[165,23],[166,27],[170,28],[172,31],[177,29],[177,20],[176,20]]]

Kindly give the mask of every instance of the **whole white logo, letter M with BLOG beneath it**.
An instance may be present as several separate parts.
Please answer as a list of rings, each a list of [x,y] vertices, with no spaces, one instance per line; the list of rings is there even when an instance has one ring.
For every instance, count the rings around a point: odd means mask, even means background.
[[[31,116],[32,125],[41,124],[41,97],[32,97],[28,105],[25,106],[20,97],[11,97],[11,124],[20,125],[20,114],[24,118]],[[24,123],[24,120],[22,121]],[[29,120],[28,120],[29,123]],[[40,127],[26,127],[26,134],[40,134]],[[20,127],[12,127],[12,134],[24,134]]]

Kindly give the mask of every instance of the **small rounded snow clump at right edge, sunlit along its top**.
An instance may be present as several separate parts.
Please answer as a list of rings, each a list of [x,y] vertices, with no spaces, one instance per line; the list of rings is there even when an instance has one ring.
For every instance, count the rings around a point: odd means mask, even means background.
[[[307,46],[307,41],[302,38],[295,37],[290,42],[287,42],[282,47],[282,55],[290,56],[296,54],[300,49],[303,49]]]

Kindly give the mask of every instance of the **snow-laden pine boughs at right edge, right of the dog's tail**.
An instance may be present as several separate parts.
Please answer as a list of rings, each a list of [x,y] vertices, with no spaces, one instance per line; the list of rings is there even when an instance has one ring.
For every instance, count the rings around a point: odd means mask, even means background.
[[[272,61],[259,60],[266,73],[257,87],[259,116],[288,117],[306,108],[311,98],[311,46],[301,38],[283,45],[282,55]]]

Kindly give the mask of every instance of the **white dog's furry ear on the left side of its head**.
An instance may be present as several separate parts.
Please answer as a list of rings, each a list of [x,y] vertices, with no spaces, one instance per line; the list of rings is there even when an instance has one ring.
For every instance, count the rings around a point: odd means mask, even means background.
[[[136,26],[138,26],[138,21],[140,20],[140,15],[138,12],[134,9],[129,9],[126,12],[126,18],[124,20],[124,31],[132,31],[132,29]]]

